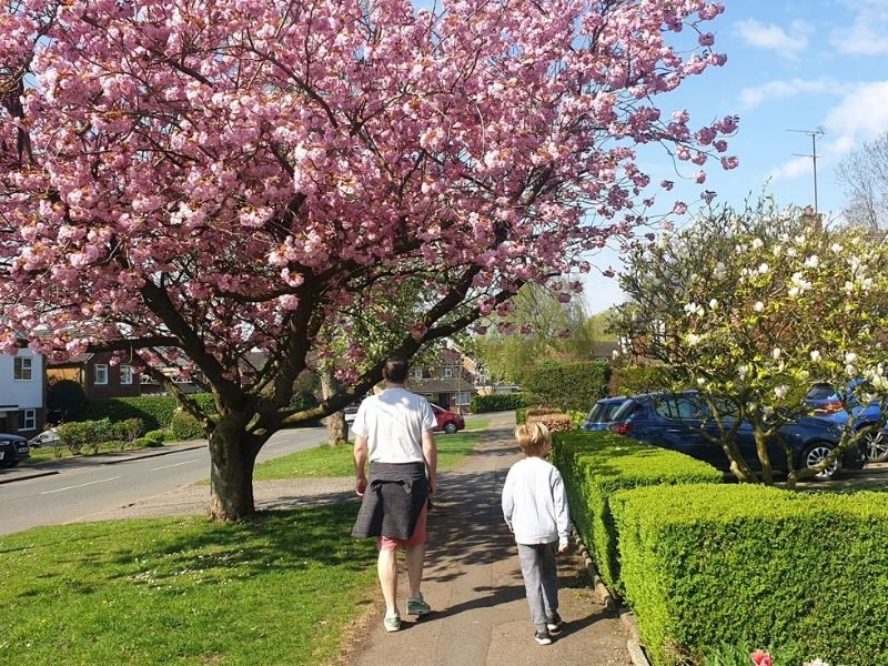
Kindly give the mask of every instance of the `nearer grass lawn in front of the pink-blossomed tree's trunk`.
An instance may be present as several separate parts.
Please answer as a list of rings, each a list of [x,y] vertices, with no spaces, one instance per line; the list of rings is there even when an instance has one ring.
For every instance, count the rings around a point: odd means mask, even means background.
[[[323,664],[376,589],[355,503],[0,539],[1,664]]]

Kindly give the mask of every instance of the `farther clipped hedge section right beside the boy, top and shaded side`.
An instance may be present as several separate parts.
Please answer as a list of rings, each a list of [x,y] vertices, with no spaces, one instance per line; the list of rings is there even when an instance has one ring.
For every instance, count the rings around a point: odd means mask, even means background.
[[[682,453],[610,432],[553,436],[554,463],[562,471],[574,525],[612,591],[622,594],[617,536],[610,496],[656,484],[720,483],[715,467]]]

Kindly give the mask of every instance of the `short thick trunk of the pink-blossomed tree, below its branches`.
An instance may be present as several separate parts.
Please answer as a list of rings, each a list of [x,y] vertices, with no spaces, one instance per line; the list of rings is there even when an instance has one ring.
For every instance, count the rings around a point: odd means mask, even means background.
[[[210,436],[210,515],[215,521],[243,521],[255,513],[253,451],[242,417],[223,417]]]

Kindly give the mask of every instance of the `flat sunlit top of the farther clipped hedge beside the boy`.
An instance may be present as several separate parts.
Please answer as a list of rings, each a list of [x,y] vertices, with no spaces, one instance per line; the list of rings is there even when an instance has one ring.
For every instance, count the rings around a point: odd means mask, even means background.
[[[723,480],[718,470],[702,461],[616,433],[569,432],[554,438],[557,458],[585,468],[588,482],[603,492]]]

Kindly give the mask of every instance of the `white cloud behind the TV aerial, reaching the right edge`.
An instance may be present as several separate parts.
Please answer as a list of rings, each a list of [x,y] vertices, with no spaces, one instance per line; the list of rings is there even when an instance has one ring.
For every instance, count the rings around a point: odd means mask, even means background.
[[[841,101],[827,112],[824,128],[826,134],[817,142],[818,173],[888,128],[888,81],[849,84]],[[811,171],[811,159],[801,157],[775,168],[770,178],[789,180]]]

